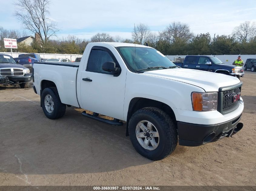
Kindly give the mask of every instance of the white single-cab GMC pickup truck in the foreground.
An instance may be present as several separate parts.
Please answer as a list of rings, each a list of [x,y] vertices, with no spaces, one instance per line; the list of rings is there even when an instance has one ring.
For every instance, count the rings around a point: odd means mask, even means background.
[[[48,118],[72,105],[104,123],[126,122],[134,148],[151,160],[171,154],[178,141],[199,146],[243,127],[238,78],[180,68],[148,46],[89,43],[80,63],[36,62],[33,81]]]

